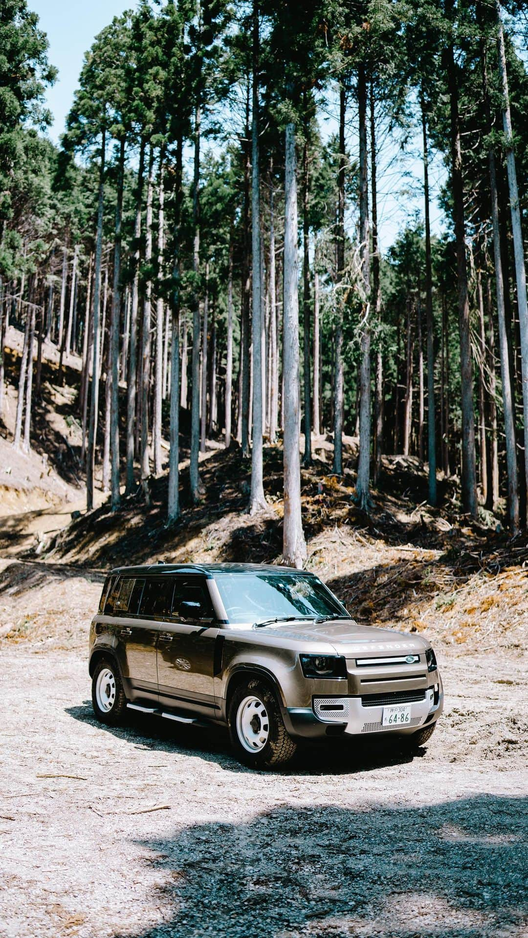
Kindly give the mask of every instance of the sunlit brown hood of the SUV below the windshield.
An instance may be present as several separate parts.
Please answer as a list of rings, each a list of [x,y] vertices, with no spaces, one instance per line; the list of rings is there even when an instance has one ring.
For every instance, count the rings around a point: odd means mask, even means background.
[[[259,629],[260,631],[260,629]],[[359,626],[354,619],[335,619],[330,622],[278,622],[266,626],[262,633],[278,635],[298,642],[326,642],[333,645],[337,655],[383,658],[405,652],[424,652],[430,643],[420,635],[396,632],[392,628]]]

